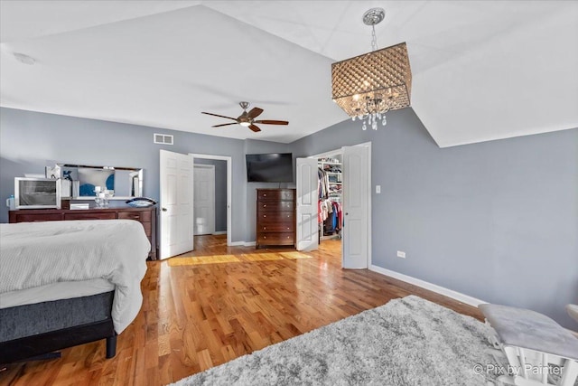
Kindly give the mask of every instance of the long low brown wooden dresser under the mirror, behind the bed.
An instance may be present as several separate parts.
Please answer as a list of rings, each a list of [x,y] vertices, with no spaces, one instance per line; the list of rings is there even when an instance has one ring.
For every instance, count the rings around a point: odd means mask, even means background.
[[[67,221],[67,220],[136,220],[144,227],[151,242],[150,258],[156,260],[156,207],[106,208],[106,209],[22,209],[9,212],[10,222]]]

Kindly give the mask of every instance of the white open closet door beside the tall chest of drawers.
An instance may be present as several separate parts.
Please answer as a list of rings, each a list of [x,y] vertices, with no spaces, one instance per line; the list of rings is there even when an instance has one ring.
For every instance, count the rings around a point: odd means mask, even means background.
[[[317,160],[297,158],[297,250],[319,246]]]

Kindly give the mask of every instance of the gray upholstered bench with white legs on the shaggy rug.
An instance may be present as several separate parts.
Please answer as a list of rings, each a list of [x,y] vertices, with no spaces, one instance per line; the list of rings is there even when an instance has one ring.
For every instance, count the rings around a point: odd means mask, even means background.
[[[479,308],[498,334],[493,343],[508,357],[508,375],[499,381],[573,386],[578,378],[578,338],[570,331],[535,311],[490,304]]]

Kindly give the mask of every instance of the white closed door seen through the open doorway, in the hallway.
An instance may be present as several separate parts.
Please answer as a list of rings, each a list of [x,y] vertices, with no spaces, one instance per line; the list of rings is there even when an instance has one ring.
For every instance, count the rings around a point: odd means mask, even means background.
[[[215,165],[194,165],[195,235],[215,232]]]

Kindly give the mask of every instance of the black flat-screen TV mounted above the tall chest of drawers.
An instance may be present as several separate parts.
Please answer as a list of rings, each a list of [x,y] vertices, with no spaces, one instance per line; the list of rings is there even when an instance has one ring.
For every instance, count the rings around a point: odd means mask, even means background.
[[[246,155],[249,183],[293,183],[293,155]]]

